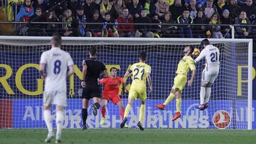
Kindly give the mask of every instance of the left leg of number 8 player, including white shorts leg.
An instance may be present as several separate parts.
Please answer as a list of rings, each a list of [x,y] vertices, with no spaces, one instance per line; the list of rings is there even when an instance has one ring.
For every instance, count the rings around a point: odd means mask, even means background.
[[[46,137],[46,142],[49,143],[50,139],[53,138],[53,120],[50,114],[50,106],[53,102],[52,95],[48,92],[43,92],[43,118],[46,122],[48,128],[48,135]]]

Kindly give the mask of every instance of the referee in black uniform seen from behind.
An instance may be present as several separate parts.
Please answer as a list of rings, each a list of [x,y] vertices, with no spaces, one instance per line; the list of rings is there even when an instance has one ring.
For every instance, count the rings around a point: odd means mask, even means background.
[[[96,116],[97,109],[100,109],[100,99],[102,92],[98,79],[100,74],[108,77],[106,66],[103,62],[96,59],[97,49],[95,47],[89,50],[90,58],[82,61],[82,129],[86,129],[87,109],[89,100],[93,99],[94,104],[91,104],[92,113]]]

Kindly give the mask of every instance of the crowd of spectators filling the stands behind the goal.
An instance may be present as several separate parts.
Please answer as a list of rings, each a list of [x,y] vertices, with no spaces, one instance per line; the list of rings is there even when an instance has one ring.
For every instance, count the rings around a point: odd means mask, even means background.
[[[254,0],[7,1],[12,11],[7,16],[9,21],[63,22],[21,24],[18,32],[26,35],[230,38],[230,24],[240,25],[235,26],[235,38],[252,38],[256,33],[256,27],[247,26],[256,25]],[[13,4],[18,6],[17,11]]]

